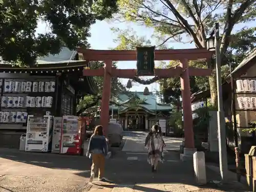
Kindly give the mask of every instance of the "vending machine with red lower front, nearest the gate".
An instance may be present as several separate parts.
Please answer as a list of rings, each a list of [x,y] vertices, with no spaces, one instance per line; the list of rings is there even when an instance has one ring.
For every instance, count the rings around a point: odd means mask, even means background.
[[[81,130],[77,116],[63,116],[60,153],[79,155],[81,153]]]

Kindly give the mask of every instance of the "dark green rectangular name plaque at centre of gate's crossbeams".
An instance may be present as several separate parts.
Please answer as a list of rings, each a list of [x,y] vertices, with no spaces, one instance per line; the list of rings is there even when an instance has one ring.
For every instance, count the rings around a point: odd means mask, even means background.
[[[137,47],[137,75],[154,75],[155,46]]]

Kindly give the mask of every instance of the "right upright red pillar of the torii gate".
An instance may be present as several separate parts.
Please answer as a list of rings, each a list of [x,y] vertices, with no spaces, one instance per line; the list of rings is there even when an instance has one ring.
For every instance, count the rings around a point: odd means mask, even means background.
[[[191,151],[191,150],[194,151],[195,141],[194,141],[194,131],[193,131],[192,110],[191,110],[188,60],[187,59],[181,60],[180,67],[182,68],[180,84],[181,84],[181,94],[182,94],[185,148],[188,151]],[[184,150],[184,155],[185,155],[185,150]]]

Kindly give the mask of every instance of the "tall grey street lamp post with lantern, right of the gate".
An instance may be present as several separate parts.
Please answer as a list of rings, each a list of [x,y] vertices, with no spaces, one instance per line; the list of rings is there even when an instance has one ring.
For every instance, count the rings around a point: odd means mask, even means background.
[[[216,78],[217,78],[217,93],[218,93],[218,141],[219,141],[219,160],[220,174],[222,181],[226,181],[228,177],[227,166],[227,147],[226,147],[226,128],[223,111],[222,100],[222,79],[221,79],[221,58],[220,58],[220,34],[219,23],[215,24],[215,29],[210,33],[207,39],[207,47],[209,51],[215,49],[216,53]]]

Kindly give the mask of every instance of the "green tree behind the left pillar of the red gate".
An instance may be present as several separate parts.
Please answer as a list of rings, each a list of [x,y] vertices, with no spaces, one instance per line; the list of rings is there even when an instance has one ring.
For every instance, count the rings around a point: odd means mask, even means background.
[[[89,63],[91,69],[98,69],[104,66],[104,62],[102,61],[91,61]],[[113,67],[116,66],[116,62],[113,62]],[[84,96],[79,102],[78,105],[78,113],[87,112],[90,114],[97,113],[100,107],[100,100],[102,96],[103,90],[103,77],[94,76],[94,81],[99,88],[98,96],[87,95]],[[118,94],[126,93],[126,88],[123,84],[118,80],[117,77],[111,78],[111,102],[115,102],[117,100]]]

